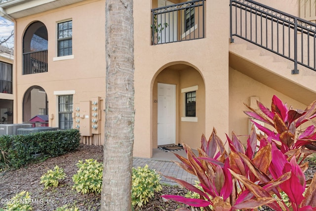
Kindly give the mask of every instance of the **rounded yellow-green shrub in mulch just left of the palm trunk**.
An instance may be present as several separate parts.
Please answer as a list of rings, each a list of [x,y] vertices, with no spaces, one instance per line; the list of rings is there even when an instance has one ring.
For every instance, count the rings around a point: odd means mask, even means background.
[[[97,160],[89,159],[82,160],[76,164],[79,168],[77,173],[73,176],[74,186],[77,192],[86,193],[101,193],[102,190],[102,173],[103,164]]]

